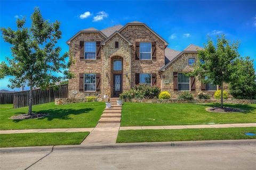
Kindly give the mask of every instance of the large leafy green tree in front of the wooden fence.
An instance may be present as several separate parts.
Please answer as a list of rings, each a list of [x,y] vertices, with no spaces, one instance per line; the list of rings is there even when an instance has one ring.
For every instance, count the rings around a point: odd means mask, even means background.
[[[67,70],[70,66],[65,61],[68,53],[60,56],[61,48],[56,46],[61,38],[60,22],[44,20],[36,7],[31,15],[31,27],[25,27],[25,23],[25,18],[17,19],[17,30],[1,28],[4,41],[12,45],[12,58],[6,57],[9,64],[0,64],[0,78],[12,75],[10,88],[30,87],[28,114],[31,114],[33,88],[54,86],[55,82],[71,78],[73,74]],[[56,73],[64,76],[57,77]]]

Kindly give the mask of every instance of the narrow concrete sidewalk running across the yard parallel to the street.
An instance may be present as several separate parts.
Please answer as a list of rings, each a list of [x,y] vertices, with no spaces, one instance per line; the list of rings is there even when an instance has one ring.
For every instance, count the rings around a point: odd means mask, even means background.
[[[103,132],[105,131],[116,132],[116,130],[147,130],[147,129],[202,129],[202,128],[246,128],[256,127],[256,123],[235,123],[235,124],[202,124],[202,125],[173,125],[173,126],[124,126],[119,128],[119,123],[98,124],[95,128]],[[1,130],[0,134],[13,134],[13,133],[45,133],[45,132],[92,132],[95,128],[67,128],[67,129],[26,129],[26,130]],[[95,130],[96,131],[96,130]]]

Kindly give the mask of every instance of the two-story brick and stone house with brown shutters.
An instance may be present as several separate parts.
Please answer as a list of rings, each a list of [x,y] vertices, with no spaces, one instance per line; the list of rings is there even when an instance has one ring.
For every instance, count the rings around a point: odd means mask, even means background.
[[[69,70],[76,75],[69,80],[69,97],[118,97],[139,83],[156,85],[172,97],[182,90],[217,90],[183,74],[193,69],[201,47],[190,45],[182,52],[167,48],[167,41],[145,23],[81,30],[67,44],[75,60]]]

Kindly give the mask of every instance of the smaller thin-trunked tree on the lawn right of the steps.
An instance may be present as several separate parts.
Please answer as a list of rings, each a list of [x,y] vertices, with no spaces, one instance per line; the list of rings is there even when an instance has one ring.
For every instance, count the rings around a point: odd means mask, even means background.
[[[217,36],[217,45],[209,38],[204,50],[198,50],[198,62],[192,73],[204,83],[221,86],[221,107],[223,107],[223,83],[230,83],[236,76],[235,60],[239,57],[238,43],[229,44],[225,35]],[[205,79],[207,77],[207,79]]]

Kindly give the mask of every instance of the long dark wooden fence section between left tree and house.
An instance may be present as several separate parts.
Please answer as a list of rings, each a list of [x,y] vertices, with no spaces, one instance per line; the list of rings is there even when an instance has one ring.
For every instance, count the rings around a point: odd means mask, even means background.
[[[13,93],[13,108],[25,107],[29,105],[29,91],[20,91]],[[49,103],[54,101],[55,98],[68,97],[68,84],[60,85],[58,90],[52,88],[41,90],[33,90],[33,105]],[[1,97],[2,99],[2,97]]]

